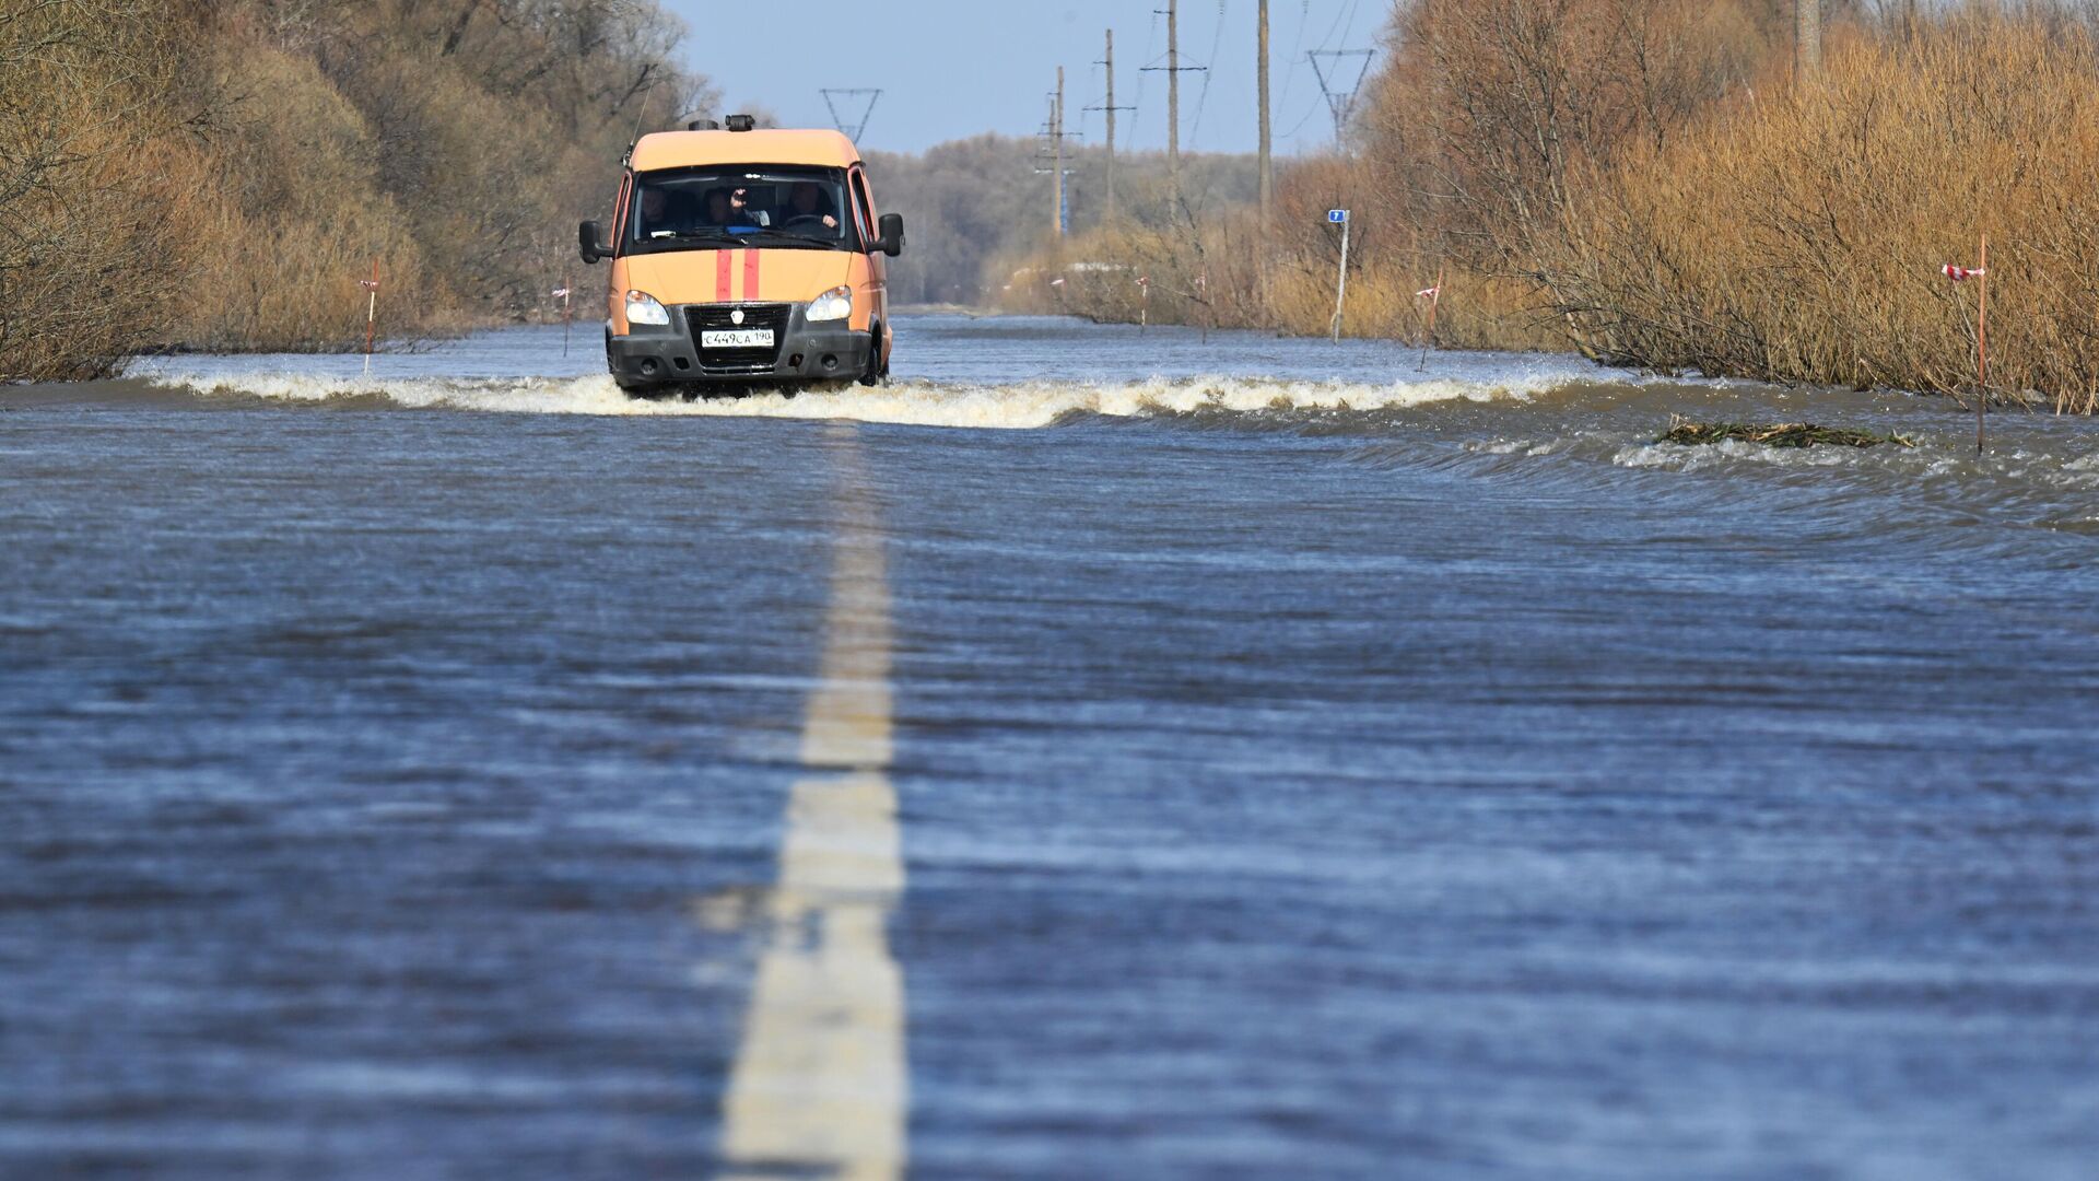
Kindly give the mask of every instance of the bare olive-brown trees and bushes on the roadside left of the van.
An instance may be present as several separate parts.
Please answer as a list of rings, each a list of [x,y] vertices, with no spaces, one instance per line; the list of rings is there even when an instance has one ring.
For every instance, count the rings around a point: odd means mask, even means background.
[[[634,128],[712,95],[651,0],[42,0],[0,19],[0,380],[546,307]]]

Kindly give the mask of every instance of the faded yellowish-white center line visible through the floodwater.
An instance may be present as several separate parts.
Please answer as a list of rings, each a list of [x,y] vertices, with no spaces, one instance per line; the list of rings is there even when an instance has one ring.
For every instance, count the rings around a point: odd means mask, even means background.
[[[890,765],[890,588],[882,515],[852,427],[833,427],[840,523],[821,679],[722,1101],[724,1177],[903,1175],[905,981],[888,916],[905,889]]]

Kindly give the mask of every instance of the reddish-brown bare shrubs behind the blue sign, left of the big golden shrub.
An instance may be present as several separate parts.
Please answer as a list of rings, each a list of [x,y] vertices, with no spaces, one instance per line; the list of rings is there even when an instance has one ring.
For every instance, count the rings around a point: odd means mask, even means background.
[[[1560,244],[1572,177],[1627,145],[1665,143],[1694,111],[1744,88],[1784,34],[1778,8],[1415,0],[1394,15],[1385,67],[1352,128],[1360,151],[1282,168],[1272,225],[1251,210],[1150,216],[1144,229],[1043,252],[1029,269],[1144,265],[1175,275],[1175,292],[1192,292],[1190,271],[1209,271],[1207,298],[1154,298],[1154,317],[1316,334],[1333,322],[1341,246],[1324,214],[1350,208],[1348,334],[1421,338],[1415,292],[1442,273],[1438,343],[1566,347],[1541,258]],[[1077,296],[1075,286],[1066,275],[1066,309],[1129,311],[1127,292]],[[1010,303],[1054,305],[1035,286],[1020,290]]]

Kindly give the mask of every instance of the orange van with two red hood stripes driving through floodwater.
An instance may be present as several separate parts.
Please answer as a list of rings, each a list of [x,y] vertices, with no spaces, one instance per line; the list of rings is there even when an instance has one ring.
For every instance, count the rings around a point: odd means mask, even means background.
[[[605,361],[634,395],[701,385],[875,385],[890,372],[888,258],[905,223],[875,216],[867,166],[835,130],[756,130],[730,116],[644,134],[611,235]]]

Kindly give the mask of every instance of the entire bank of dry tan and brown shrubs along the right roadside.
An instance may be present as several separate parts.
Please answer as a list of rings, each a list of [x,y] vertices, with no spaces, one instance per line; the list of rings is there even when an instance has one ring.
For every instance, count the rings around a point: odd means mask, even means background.
[[[2089,4],[1406,0],[1343,156],[1274,221],[1119,219],[1045,246],[1008,305],[1324,332],[1354,210],[1350,334],[1551,347],[1660,370],[2099,408],[2099,48]],[[1192,202],[1190,202],[1192,204]],[[1066,282],[1052,288],[1050,277]]]

